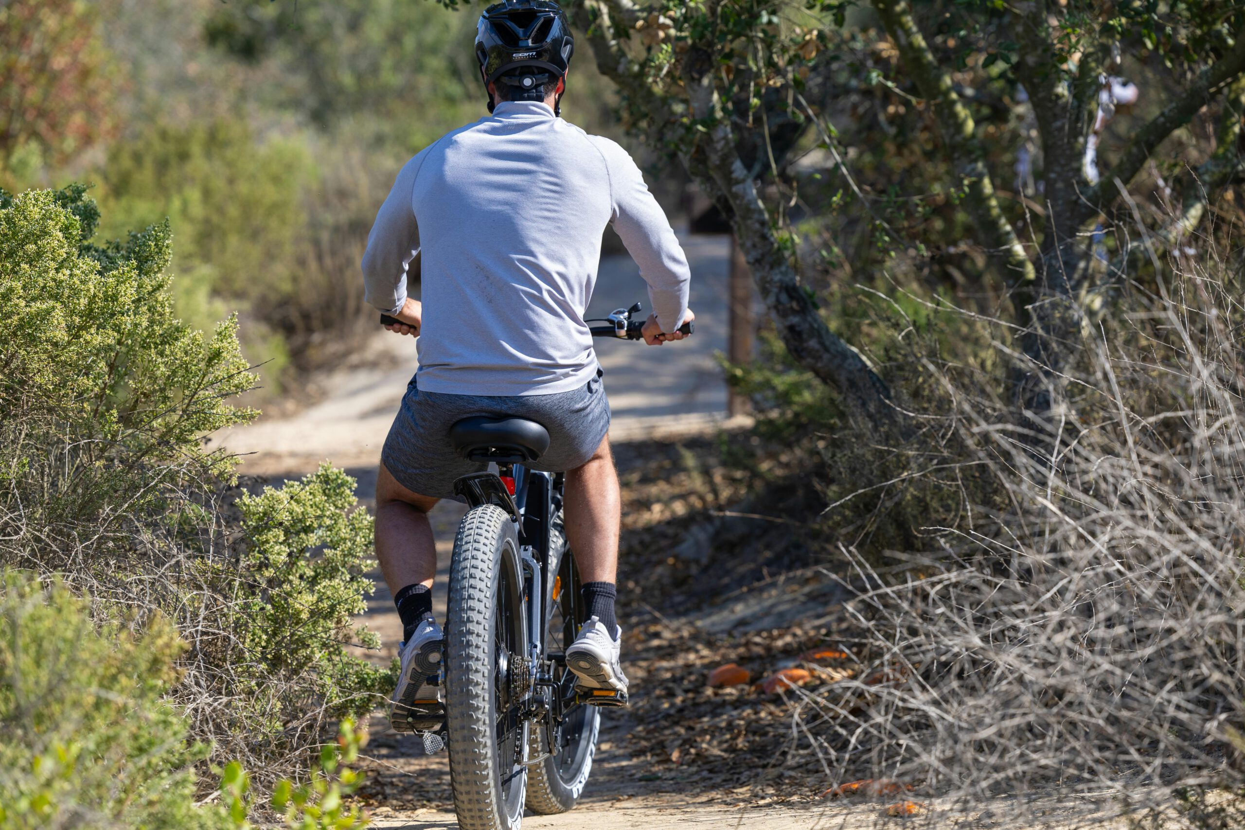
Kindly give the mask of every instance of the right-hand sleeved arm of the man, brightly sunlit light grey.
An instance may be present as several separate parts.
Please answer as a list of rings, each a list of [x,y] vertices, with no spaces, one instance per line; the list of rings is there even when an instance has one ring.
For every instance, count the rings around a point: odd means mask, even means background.
[[[661,331],[671,335],[687,319],[691,269],[666,213],[657,204],[631,156],[608,138],[590,137],[610,177],[613,224],[640,276],[649,284],[649,300]]]

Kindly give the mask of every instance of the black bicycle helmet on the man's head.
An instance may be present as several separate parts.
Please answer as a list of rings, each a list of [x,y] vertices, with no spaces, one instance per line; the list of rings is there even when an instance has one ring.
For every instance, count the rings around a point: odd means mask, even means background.
[[[496,2],[484,9],[476,26],[476,57],[486,90],[500,81],[537,91],[550,78],[565,77],[574,51],[566,14],[550,0]],[[530,68],[520,71],[525,67]],[[493,112],[492,96],[488,111]]]

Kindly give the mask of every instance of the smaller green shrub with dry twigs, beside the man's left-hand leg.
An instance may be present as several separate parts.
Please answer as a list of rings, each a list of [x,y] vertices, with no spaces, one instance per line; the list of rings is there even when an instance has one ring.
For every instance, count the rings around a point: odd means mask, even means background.
[[[209,591],[181,600],[192,651],[178,698],[218,758],[247,759],[265,784],[275,776],[259,759],[294,759],[330,718],[364,717],[392,688],[390,669],[345,650],[378,645],[351,627],[371,590],[372,535],[354,489],[324,465],[259,495],[230,492],[237,539],[192,562]]]

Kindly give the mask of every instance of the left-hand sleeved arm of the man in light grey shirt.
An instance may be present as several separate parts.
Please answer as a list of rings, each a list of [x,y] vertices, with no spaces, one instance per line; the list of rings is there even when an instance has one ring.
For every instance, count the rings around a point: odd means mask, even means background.
[[[423,151],[427,152],[427,151]],[[385,204],[376,213],[364,253],[364,300],[385,314],[397,314],[406,302],[407,275],[420,273],[420,226],[415,220],[412,190],[423,162],[423,152],[412,158],[393,182]]]

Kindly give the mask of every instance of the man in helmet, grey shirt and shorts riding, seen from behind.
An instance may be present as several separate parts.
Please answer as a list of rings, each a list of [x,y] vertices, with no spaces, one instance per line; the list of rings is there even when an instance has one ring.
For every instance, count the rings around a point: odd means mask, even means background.
[[[467,416],[548,429],[532,468],[565,473],[565,535],[590,615],[566,662],[585,688],[626,692],[615,620],[619,484],[610,409],[584,312],[608,224],[649,285],[650,346],[684,337],[690,273],[631,157],[559,117],[574,40],[549,0],[505,0],[479,19],[476,55],[491,116],[402,168],[367,239],[366,300],[417,341],[418,371],[381,453],[376,556],[402,618],[395,701],[439,667],[437,569],[428,511],[484,469],[447,439]],[[407,296],[421,281],[422,301]],[[418,697],[437,697],[420,688]]]

